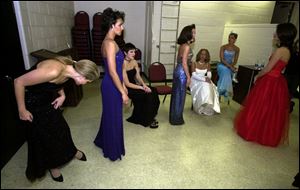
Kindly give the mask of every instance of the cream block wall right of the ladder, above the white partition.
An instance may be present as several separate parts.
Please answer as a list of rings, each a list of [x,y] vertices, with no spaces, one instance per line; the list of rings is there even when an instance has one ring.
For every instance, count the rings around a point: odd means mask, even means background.
[[[179,31],[184,26],[194,23],[194,54],[196,55],[201,48],[207,48],[211,60],[220,60],[219,50],[225,24],[270,23],[274,6],[275,1],[182,1]],[[248,36],[248,39],[251,40],[251,37]],[[243,43],[240,39],[239,42]]]

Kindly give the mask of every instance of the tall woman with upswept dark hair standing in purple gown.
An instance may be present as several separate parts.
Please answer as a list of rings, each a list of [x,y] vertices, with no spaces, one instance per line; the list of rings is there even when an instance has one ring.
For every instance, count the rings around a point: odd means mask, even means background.
[[[125,155],[122,103],[128,104],[128,96],[122,76],[124,54],[114,40],[124,29],[124,13],[107,8],[102,16],[102,28],[107,32],[101,47],[105,75],[101,84],[102,117],[94,143],[105,158],[115,161]]]

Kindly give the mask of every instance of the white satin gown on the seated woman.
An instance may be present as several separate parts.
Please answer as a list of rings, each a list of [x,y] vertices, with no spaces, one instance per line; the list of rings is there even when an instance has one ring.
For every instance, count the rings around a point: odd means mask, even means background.
[[[219,94],[216,85],[205,82],[207,69],[197,69],[191,77],[191,95],[193,100],[193,109],[198,114],[213,115],[221,113]]]

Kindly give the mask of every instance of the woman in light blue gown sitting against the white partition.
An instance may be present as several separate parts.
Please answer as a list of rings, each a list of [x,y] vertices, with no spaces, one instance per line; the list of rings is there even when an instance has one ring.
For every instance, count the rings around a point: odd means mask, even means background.
[[[218,92],[224,96],[228,102],[229,97],[233,95],[232,76],[236,72],[235,65],[239,58],[240,48],[235,45],[238,35],[230,33],[228,36],[228,44],[220,48],[221,63],[217,65],[219,80],[217,82]]]

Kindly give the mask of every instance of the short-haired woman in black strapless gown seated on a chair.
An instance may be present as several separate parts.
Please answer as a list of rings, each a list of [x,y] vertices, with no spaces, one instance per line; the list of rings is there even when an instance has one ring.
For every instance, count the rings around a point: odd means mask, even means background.
[[[134,59],[136,47],[126,43],[123,47],[125,54],[123,65],[123,80],[128,89],[128,97],[133,102],[132,115],[128,122],[140,124],[144,127],[157,128],[155,116],[160,105],[155,88],[148,87],[140,76],[139,66]]]

